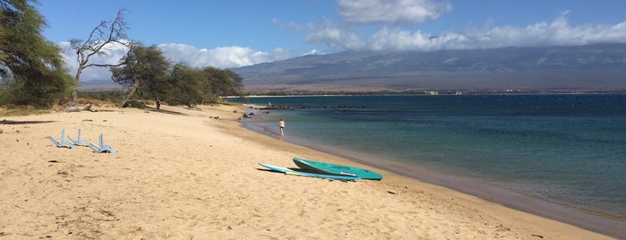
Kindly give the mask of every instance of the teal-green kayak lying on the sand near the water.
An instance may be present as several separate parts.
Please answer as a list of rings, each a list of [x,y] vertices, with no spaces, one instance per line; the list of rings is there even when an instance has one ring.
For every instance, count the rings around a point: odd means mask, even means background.
[[[373,179],[373,180],[381,180],[382,175],[374,173],[373,171],[359,168],[359,167],[349,167],[339,164],[332,164],[326,162],[318,162],[308,159],[299,159],[294,158],[294,163],[296,163],[297,167],[300,167],[305,170],[315,171],[326,175],[337,175],[337,176],[358,176],[363,179]]]

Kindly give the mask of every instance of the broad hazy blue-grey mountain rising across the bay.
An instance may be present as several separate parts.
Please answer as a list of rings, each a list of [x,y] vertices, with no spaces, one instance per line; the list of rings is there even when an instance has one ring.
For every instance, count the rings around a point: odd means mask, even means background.
[[[231,69],[247,91],[626,90],[626,44],[344,51]]]

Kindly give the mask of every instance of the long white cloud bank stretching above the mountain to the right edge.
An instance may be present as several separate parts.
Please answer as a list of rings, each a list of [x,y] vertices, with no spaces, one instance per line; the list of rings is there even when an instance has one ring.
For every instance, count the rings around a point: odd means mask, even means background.
[[[421,31],[382,27],[370,36],[353,28],[322,21],[309,26],[307,42],[353,50],[422,50],[475,49],[495,47],[562,46],[626,42],[626,21],[615,25],[570,26],[563,12],[552,22],[537,22],[527,27],[468,27],[460,32],[431,35]]]

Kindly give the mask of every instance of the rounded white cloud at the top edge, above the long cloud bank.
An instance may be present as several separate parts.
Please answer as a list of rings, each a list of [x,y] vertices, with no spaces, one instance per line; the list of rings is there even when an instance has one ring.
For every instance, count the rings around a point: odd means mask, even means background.
[[[421,23],[451,10],[450,3],[436,0],[339,0],[339,16],[355,23]]]

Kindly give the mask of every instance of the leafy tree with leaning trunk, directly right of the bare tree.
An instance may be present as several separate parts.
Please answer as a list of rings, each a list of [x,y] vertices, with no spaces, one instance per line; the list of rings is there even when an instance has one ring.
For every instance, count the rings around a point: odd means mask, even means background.
[[[121,60],[124,66],[111,67],[113,81],[131,89],[120,104],[124,106],[135,92],[143,99],[143,88],[152,92],[163,91],[167,81],[167,62],[159,47],[152,45],[143,47],[141,44],[133,44],[131,50]]]

